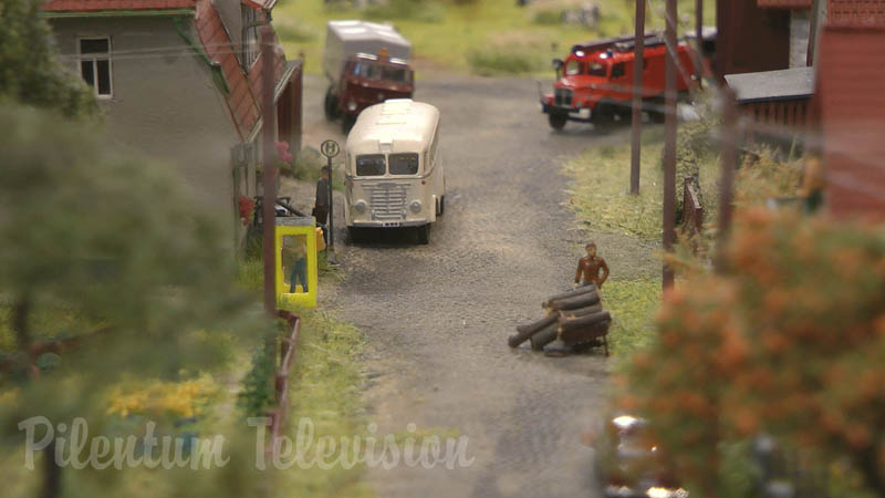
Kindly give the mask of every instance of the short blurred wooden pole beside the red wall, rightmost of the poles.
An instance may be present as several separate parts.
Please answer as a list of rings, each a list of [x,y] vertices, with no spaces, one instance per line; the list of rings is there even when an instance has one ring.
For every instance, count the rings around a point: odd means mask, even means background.
[[[725,247],[731,232],[731,206],[733,198],[735,169],[738,166],[738,110],[735,91],[722,90],[722,158],[719,178],[719,230],[716,240],[714,266],[717,272],[725,270]]]

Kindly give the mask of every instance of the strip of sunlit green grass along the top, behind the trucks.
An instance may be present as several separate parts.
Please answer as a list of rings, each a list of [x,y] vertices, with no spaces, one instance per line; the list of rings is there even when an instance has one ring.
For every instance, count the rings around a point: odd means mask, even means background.
[[[279,34],[287,54],[292,58],[303,52],[305,70],[312,74],[322,73],[326,21],[391,21],[413,43],[419,82],[424,69],[457,72],[477,70],[477,65],[470,63],[471,53],[518,50],[525,60],[549,61],[564,58],[569,48],[575,43],[633,31],[632,2],[623,0],[598,0],[602,17],[598,27],[593,30],[553,22],[551,15],[541,13],[544,10],[559,9],[555,6],[551,8],[551,2],[538,2],[537,8],[519,8],[516,3],[513,0],[392,0],[386,7],[357,11],[344,2],[326,4],[323,0],[283,0],[274,9],[273,17],[274,25],[283,27]],[[714,4],[712,0],[705,0],[705,20],[710,24],[715,22]],[[689,14],[687,19],[694,19],[690,15],[694,12],[693,6],[693,0],[679,2],[680,12]],[[649,9],[648,29],[664,27],[663,15],[657,11],[656,8]],[[537,22],[538,19],[544,22]],[[690,29],[690,25],[685,24],[683,28]],[[533,63],[532,72],[552,75],[553,71],[543,65]],[[489,72],[485,66],[479,70]]]

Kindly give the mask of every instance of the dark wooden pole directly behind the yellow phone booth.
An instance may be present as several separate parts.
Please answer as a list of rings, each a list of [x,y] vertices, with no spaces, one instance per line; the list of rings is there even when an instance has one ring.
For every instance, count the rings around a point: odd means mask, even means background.
[[[277,315],[277,106],[273,105],[273,30],[261,27],[261,203],[262,258],[264,260],[264,311]]]

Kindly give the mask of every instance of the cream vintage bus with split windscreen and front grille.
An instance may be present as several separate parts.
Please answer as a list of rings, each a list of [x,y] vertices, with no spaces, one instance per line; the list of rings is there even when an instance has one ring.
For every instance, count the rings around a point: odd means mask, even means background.
[[[415,227],[418,241],[429,241],[446,208],[436,107],[409,98],[367,107],[347,135],[345,160],[351,240],[365,228]]]

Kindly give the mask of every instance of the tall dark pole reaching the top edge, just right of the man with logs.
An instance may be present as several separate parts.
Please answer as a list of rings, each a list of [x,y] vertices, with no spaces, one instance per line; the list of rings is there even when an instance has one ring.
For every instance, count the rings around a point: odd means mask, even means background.
[[[665,135],[664,135],[664,250],[673,251],[676,241],[676,60],[678,46],[676,44],[676,0],[667,0],[666,39],[667,72],[666,87],[664,91]],[[664,290],[673,287],[673,268],[664,263]]]

